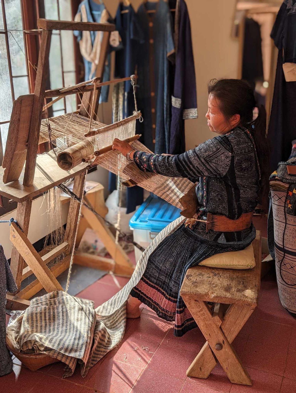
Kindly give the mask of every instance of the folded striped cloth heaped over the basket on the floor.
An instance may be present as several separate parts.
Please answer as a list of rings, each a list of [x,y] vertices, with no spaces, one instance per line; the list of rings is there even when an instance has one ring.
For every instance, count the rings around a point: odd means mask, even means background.
[[[17,338],[25,353],[43,353],[66,364],[63,377],[84,373],[96,325],[94,302],[55,291],[31,300]]]

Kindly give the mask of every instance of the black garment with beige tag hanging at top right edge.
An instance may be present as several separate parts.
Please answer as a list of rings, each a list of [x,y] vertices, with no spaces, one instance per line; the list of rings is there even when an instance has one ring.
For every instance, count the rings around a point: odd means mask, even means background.
[[[296,82],[286,82],[283,63],[296,63],[296,1],[285,0],[281,5],[271,38],[278,48],[278,64],[268,127],[271,147],[270,165],[276,170],[280,161],[290,154],[291,140],[296,138]]]

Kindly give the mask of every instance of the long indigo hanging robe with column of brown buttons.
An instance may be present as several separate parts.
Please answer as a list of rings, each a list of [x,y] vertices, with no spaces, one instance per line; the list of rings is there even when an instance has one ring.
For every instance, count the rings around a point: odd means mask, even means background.
[[[155,11],[149,13],[147,11]],[[171,89],[169,61],[174,59],[172,16],[167,2],[147,2],[138,9],[143,30],[137,61],[137,100],[143,114],[137,133],[156,153],[168,153],[171,128]]]

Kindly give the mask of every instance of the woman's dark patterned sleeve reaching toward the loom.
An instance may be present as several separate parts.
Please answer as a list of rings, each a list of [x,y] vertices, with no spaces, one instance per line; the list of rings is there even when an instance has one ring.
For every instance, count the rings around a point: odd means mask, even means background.
[[[232,147],[224,135],[201,143],[193,150],[175,156],[136,151],[134,162],[144,172],[171,177],[223,177],[228,172]]]

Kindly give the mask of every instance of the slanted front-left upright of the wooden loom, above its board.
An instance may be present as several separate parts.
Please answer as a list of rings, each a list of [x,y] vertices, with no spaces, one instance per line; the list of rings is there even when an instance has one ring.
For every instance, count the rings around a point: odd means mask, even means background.
[[[31,124],[28,138],[28,148],[26,156],[26,167],[24,173],[24,182],[26,186],[30,186],[34,181],[37,150],[39,143],[40,125],[42,117],[42,108],[45,97],[46,77],[48,75],[48,59],[50,51],[51,30],[42,31],[41,44],[39,51],[33,109],[31,116]]]

